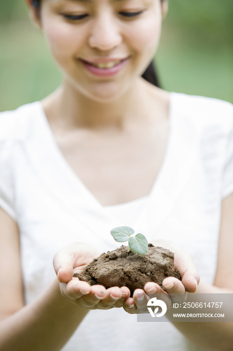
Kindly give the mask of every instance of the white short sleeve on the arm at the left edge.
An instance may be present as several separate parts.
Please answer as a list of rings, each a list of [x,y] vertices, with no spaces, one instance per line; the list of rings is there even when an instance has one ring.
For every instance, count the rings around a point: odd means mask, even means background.
[[[10,156],[9,143],[0,141],[0,207],[16,221]]]

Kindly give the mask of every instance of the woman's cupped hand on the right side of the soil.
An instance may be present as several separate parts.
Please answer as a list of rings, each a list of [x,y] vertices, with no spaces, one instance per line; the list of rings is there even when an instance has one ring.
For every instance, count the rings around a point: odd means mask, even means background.
[[[152,297],[163,300],[169,309],[173,303],[184,302],[187,292],[194,293],[199,284],[200,277],[197,269],[186,252],[169,240],[156,240],[152,244],[174,252],[174,269],[179,270],[181,281],[174,277],[163,279],[162,286],[167,292],[154,282],[147,282],[143,290],[135,289],[132,297],[124,302],[123,308],[127,313],[149,313],[147,302]]]

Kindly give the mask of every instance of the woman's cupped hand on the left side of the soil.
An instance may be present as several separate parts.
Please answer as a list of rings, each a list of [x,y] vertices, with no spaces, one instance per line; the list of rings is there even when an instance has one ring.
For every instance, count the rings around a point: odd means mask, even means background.
[[[71,243],[57,251],[53,258],[61,295],[69,302],[87,309],[110,309],[122,307],[130,296],[127,287],[114,286],[105,289],[102,285],[90,286],[87,282],[73,277],[81,273],[87,264],[101,253],[84,243]]]

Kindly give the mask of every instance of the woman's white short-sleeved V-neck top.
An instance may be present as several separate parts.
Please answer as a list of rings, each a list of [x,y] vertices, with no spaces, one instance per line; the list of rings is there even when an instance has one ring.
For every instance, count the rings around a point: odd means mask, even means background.
[[[151,192],[136,216],[122,221],[68,165],[39,102],[0,113],[0,206],[19,227],[26,303],[55,276],[57,250],[73,241],[113,250],[119,243],[109,231],[121,225],[148,242],[174,241],[190,254],[201,279],[213,282],[220,203],[233,192],[233,107],[171,93],[169,123]],[[136,322],[122,308],[90,311],[62,350],[118,351],[120,344],[122,350],[152,351],[155,343],[156,349],[200,350],[171,323]]]

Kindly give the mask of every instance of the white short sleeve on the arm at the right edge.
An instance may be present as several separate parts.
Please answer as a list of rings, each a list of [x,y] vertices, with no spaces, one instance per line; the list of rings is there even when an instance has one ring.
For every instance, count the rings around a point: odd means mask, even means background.
[[[233,106],[232,123],[226,140],[225,161],[222,174],[222,199],[233,193]]]

